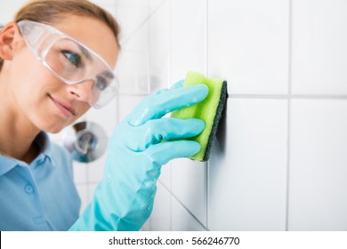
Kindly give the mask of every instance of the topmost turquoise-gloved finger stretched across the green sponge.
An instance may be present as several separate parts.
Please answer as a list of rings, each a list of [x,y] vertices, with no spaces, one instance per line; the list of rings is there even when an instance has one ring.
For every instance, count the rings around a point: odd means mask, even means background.
[[[208,87],[205,84],[156,92],[147,96],[133,109],[128,123],[138,126],[150,119],[165,116],[173,110],[197,104],[206,98],[207,93]]]

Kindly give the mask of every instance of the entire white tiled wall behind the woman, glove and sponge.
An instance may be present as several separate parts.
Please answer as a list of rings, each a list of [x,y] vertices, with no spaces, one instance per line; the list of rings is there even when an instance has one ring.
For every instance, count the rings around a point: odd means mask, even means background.
[[[347,230],[347,1],[93,2],[122,28],[119,95],[84,117],[108,135],[188,70],[228,81],[211,159],[162,167],[143,230]],[[74,165],[82,210],[105,157]]]

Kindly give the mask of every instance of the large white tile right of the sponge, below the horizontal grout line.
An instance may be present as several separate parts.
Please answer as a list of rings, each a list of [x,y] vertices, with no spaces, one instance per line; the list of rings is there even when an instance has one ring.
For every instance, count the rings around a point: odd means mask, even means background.
[[[287,100],[228,99],[208,164],[210,230],[285,230]]]

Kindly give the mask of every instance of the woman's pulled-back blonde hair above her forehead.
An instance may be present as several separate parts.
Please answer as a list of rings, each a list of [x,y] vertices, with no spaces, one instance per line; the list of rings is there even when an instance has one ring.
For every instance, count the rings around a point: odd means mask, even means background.
[[[120,48],[118,39],[120,28],[117,20],[109,12],[87,0],[31,0],[15,14],[14,21],[34,20],[52,25],[59,22],[67,14],[101,20],[112,30],[118,49]],[[4,60],[0,58],[0,71],[3,64]]]

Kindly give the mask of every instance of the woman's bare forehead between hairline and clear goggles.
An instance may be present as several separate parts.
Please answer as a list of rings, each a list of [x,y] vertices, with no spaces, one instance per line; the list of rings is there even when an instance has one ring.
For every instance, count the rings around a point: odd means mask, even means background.
[[[52,26],[85,44],[100,54],[112,68],[115,67],[118,55],[117,40],[112,30],[101,20],[69,15]]]

